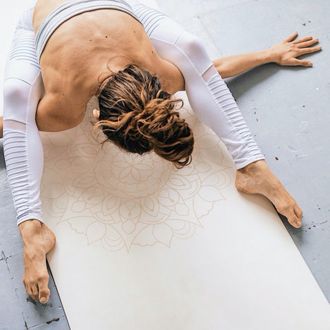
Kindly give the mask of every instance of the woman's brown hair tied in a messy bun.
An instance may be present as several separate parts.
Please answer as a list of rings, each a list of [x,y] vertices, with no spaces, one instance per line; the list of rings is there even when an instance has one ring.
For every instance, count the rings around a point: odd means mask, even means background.
[[[190,164],[194,138],[175,111],[183,101],[162,91],[157,76],[127,65],[101,85],[98,102],[100,121],[94,128],[116,146],[140,155],[153,150],[177,168]]]

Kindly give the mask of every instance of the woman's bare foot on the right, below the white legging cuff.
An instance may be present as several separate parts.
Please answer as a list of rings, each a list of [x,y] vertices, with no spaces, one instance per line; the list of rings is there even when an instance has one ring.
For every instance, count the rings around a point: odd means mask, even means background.
[[[303,211],[272,173],[265,160],[259,160],[236,171],[237,190],[246,194],[261,194],[270,199],[276,210],[295,228],[301,227]]]

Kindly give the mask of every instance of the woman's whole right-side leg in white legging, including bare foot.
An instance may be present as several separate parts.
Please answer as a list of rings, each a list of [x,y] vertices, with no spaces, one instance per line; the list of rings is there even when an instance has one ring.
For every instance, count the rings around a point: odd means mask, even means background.
[[[205,47],[195,36],[166,15],[133,3],[133,10],[159,56],[183,74],[193,111],[224,142],[236,164],[236,187],[242,192],[265,195],[295,227],[301,210],[270,171],[228,87],[219,76]]]

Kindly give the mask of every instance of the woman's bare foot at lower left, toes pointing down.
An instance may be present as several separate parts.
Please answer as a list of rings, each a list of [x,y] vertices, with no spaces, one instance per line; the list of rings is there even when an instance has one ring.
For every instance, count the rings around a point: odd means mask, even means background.
[[[24,243],[25,290],[34,300],[47,303],[50,298],[50,289],[48,289],[50,275],[47,272],[46,254],[55,244],[55,235],[47,225],[36,219],[20,223],[19,230]]]

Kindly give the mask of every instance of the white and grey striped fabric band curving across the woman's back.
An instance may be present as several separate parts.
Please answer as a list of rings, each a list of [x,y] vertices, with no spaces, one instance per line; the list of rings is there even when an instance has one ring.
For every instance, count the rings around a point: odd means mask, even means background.
[[[83,12],[98,9],[120,10],[140,22],[129,3],[123,0],[74,0],[65,2],[46,17],[36,32],[36,55],[39,62],[48,39],[62,23],[78,14],[83,14]]]

